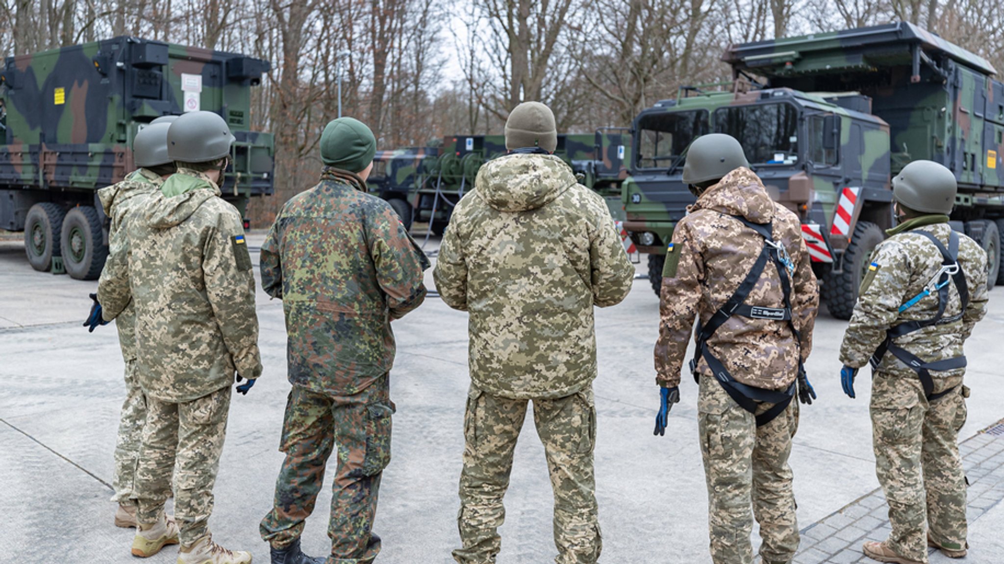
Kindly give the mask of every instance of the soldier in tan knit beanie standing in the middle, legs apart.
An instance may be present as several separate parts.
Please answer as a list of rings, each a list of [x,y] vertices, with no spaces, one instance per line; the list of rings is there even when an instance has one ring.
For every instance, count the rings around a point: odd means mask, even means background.
[[[443,301],[470,314],[471,387],[457,517],[460,563],[495,562],[513,450],[527,403],[554,490],[559,564],[601,549],[592,452],[593,306],[631,290],[628,260],[602,198],[551,155],[554,115],[524,102],[505,125],[509,155],[478,172],[457,205],[436,265]]]

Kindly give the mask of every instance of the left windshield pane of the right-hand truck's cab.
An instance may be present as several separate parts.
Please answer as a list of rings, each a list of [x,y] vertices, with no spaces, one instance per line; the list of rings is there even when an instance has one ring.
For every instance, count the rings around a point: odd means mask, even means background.
[[[639,169],[666,169],[695,137],[708,132],[708,111],[674,111],[643,115],[638,120]]]

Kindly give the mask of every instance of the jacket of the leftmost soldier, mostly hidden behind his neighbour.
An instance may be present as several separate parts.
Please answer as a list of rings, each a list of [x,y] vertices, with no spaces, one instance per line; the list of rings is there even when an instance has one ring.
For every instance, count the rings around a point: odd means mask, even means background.
[[[143,207],[146,197],[164,184],[164,179],[147,169],[137,169],[120,183],[97,191],[104,215],[108,217],[108,252],[113,254],[126,239],[121,227],[126,218],[132,216],[135,210]],[[110,274],[110,273],[109,273]],[[103,272],[102,272],[103,276]],[[98,294],[97,301],[101,301]],[[103,308],[102,308],[103,309]],[[115,316],[115,329],[118,330],[118,345],[122,357],[127,360],[136,359],[136,311],[132,301]]]

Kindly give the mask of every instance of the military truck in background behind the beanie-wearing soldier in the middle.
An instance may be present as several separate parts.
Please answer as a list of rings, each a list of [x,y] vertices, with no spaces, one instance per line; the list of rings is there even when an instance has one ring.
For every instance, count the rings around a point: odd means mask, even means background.
[[[428,222],[442,234],[454,206],[474,188],[481,166],[506,154],[503,135],[456,135],[440,147],[378,151],[366,181],[398,212],[409,229]],[[604,127],[594,134],[559,134],[554,155],[568,163],[580,182],[607,201],[614,218],[622,219],[620,183],[631,154],[626,128]]]

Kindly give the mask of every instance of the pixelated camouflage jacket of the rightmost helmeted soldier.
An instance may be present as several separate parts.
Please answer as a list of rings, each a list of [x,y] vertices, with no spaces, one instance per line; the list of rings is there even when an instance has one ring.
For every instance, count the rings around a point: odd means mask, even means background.
[[[942,266],[942,255],[926,237],[918,234],[924,230],[934,235],[946,247],[952,228],[948,218],[942,223],[926,225],[898,233],[877,247],[871,254],[871,266],[861,282],[857,303],[850,317],[850,324],[840,345],[840,361],[852,367],[861,367],[875,348],[886,340],[886,331],[905,321],[931,319],[938,313],[938,293],[917,302],[904,312],[900,306],[924,290]],[[916,354],[926,362],[954,358],[963,354],[963,343],[973,331],[976,322],[986,313],[987,254],[979,243],[959,233],[959,266],[966,274],[969,288],[969,306],[961,311],[962,302],[955,283],[949,283],[949,300],[944,318],[959,317],[906,334],[896,344]],[[962,314],[960,316],[960,313]],[[917,372],[887,352],[878,365],[882,372],[917,377]],[[958,385],[965,368],[932,371],[935,392]]]

